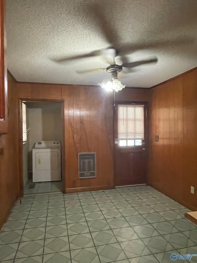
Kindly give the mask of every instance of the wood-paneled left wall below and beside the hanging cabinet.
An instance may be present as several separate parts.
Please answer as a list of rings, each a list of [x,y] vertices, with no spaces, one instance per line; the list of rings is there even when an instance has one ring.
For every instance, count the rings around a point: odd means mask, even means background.
[[[0,229],[19,196],[16,83],[8,74],[8,134],[0,149]]]

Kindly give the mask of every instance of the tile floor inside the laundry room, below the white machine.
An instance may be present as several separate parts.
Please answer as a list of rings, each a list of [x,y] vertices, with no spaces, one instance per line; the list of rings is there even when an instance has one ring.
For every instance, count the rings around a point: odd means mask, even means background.
[[[35,184],[34,188],[28,188],[30,184]],[[26,187],[24,188],[24,195],[39,194],[39,193],[54,193],[62,191],[62,181],[53,182],[38,182],[33,183],[32,179],[29,179]]]

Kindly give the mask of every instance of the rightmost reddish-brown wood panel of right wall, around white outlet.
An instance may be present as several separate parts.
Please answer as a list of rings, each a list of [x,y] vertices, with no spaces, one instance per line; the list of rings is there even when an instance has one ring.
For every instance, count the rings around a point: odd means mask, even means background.
[[[197,207],[197,70],[183,76],[183,198]],[[190,193],[191,186],[195,194]]]

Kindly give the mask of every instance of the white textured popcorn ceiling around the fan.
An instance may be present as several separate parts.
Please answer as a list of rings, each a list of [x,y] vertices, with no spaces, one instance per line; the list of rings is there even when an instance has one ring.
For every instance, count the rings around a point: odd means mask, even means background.
[[[97,85],[110,79],[106,71],[76,73],[106,68],[109,64],[103,55],[54,61],[110,46],[94,15],[84,11],[95,1],[6,2],[8,69],[16,80]],[[124,44],[133,46],[127,61],[158,57],[157,64],[123,70],[127,75],[121,82],[126,86],[149,88],[197,67],[197,0],[105,0],[102,4],[103,16],[117,34],[116,44],[123,49]],[[122,61],[117,57],[116,63]]]

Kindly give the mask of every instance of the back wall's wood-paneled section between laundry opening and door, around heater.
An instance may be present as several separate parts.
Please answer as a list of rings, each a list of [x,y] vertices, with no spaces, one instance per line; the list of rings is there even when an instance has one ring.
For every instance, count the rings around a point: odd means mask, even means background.
[[[62,87],[65,100],[67,191],[113,188],[113,94],[96,87]],[[95,152],[97,178],[78,179],[78,153]],[[77,189],[73,189],[77,188]]]

